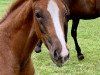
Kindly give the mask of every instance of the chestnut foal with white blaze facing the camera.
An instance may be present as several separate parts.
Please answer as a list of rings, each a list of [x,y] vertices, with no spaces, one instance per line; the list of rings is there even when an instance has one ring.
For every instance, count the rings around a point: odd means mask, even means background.
[[[34,75],[31,54],[40,39],[56,65],[61,66],[68,59],[62,11],[66,12],[61,0],[17,0],[12,5],[0,22],[0,75]]]

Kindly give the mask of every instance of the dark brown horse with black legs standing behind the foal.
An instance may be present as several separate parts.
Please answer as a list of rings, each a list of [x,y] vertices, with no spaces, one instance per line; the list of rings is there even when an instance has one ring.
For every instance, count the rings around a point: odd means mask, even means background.
[[[100,0],[63,0],[66,8],[69,8],[70,16],[69,19],[72,20],[71,35],[75,42],[75,48],[77,51],[77,56],[79,60],[84,59],[81,53],[81,48],[77,41],[77,27],[80,19],[95,19],[100,17]],[[68,28],[68,27],[67,27]],[[65,29],[67,29],[65,27]],[[67,31],[65,31],[67,32]],[[66,34],[65,34],[66,35]],[[67,36],[65,37],[67,40]],[[36,52],[41,51],[41,42],[38,43],[38,47],[35,48]]]

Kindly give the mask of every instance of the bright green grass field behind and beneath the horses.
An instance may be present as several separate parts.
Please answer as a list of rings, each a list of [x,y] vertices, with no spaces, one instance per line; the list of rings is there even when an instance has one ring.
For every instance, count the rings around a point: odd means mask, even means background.
[[[0,18],[6,14],[13,0],[0,0]],[[85,59],[77,60],[74,42],[71,37],[71,21],[69,22],[68,45],[70,59],[58,68],[51,61],[48,50],[42,46],[42,52],[33,52],[32,59],[35,75],[100,75],[100,18],[81,20],[78,28],[78,41]]]

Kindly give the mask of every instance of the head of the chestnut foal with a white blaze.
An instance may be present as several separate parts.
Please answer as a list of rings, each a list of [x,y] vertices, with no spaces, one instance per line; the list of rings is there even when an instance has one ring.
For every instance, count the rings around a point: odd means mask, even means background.
[[[62,0],[37,0],[34,10],[34,29],[49,49],[53,62],[61,66],[69,58],[64,39],[64,24],[68,9]]]

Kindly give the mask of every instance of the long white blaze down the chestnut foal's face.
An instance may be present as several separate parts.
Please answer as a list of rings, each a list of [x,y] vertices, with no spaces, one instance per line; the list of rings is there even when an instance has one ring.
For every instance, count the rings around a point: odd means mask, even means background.
[[[66,48],[66,43],[65,43],[65,39],[64,39],[64,34],[60,25],[60,19],[59,19],[59,8],[57,3],[55,2],[55,0],[50,0],[49,4],[48,4],[48,8],[47,10],[49,11],[51,18],[53,20],[54,23],[54,27],[55,27],[55,31],[57,34],[58,39],[61,42],[62,45],[62,52],[61,52],[61,56],[65,57],[68,55],[68,50]]]

